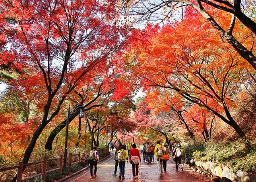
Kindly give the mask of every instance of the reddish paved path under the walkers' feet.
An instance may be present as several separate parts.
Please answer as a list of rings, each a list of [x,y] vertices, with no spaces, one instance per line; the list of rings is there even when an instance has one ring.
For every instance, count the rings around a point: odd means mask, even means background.
[[[142,157],[143,158],[143,157]],[[100,163],[97,169],[97,178],[91,178],[90,171],[83,171],[76,176],[66,180],[66,182],[210,182],[211,178],[206,178],[202,174],[192,172],[190,168],[184,171],[175,171],[175,163],[173,161],[167,162],[167,171],[162,177],[158,176],[157,163],[147,164],[142,161],[139,168],[139,176],[136,180],[132,176],[132,165],[129,163],[125,165],[125,179],[120,180],[118,176],[112,176],[114,171],[114,157],[107,159]],[[119,171],[119,166],[118,166]]]

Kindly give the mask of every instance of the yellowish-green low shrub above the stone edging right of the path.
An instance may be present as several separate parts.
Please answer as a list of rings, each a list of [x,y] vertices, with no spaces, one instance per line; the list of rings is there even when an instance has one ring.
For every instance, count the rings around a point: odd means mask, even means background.
[[[183,146],[183,157],[202,161],[214,161],[218,165],[230,163],[234,171],[250,170],[256,164],[256,145],[249,140],[223,140],[186,144]]]

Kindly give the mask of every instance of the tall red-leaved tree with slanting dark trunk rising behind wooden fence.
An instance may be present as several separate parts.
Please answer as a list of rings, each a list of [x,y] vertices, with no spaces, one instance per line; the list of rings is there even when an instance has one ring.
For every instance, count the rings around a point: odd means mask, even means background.
[[[45,84],[44,112],[23,162],[27,163],[37,138],[58,114],[62,103],[92,68],[107,62],[120,47],[124,27],[114,23],[115,1],[2,1],[1,37],[8,40],[1,59],[15,62],[38,74]],[[96,16],[97,15],[97,16]],[[27,75],[29,77],[29,74]],[[58,104],[53,104],[58,100]],[[25,169],[25,168],[24,168]],[[24,170],[23,169],[23,170]],[[15,180],[15,179],[14,179]]]

